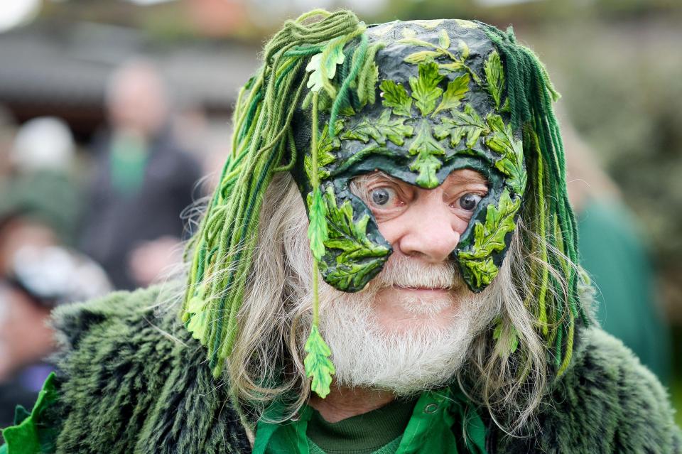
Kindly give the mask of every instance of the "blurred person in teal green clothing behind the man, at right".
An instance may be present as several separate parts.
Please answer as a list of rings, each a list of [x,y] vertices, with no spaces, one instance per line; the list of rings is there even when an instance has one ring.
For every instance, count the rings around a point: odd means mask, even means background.
[[[562,112],[563,113],[563,112]],[[593,279],[597,319],[669,383],[671,335],[637,219],[563,115],[568,196],[578,220],[580,264]]]

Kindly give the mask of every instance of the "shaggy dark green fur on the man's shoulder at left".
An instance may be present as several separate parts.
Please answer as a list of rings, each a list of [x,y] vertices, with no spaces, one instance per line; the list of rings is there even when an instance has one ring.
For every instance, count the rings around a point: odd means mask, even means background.
[[[152,287],[55,311],[58,436],[48,452],[251,451],[227,387],[212,377],[176,306],[160,315],[169,298]]]

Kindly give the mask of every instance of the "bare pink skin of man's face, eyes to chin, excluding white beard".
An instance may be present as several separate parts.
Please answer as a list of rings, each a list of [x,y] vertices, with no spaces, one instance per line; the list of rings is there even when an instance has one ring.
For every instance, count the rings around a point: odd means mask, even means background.
[[[447,327],[458,313],[458,300],[470,293],[450,254],[487,195],[485,178],[461,169],[428,190],[376,172],[356,178],[352,190],[372,210],[379,232],[394,249],[384,274],[394,269],[391,261],[408,268],[403,270],[406,276],[384,277],[389,285],[377,289],[374,310],[379,325],[386,333],[414,330],[423,323]],[[442,276],[437,272],[436,278],[426,274],[425,279],[411,279],[422,269],[444,272]]]

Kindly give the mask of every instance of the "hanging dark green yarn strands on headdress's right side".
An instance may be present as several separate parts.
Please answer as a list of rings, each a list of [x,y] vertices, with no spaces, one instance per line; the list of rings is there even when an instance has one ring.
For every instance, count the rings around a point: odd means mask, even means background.
[[[514,129],[524,129],[526,163],[537,160],[534,166],[529,165],[531,178],[526,189],[542,199],[531,212],[535,217],[532,225],[544,243],[534,246],[539,248],[534,254],[540,254],[543,261],[560,271],[568,284],[568,298],[561,298],[564,292],[561,283],[541,271],[534,273],[537,282],[531,286],[537,289],[538,327],[548,343],[557,374],[561,375],[572,356],[575,321],[580,318],[587,325],[588,318],[580,304],[575,268],[568,266],[561,255],[548,250],[550,246],[578,264],[578,229],[568,202],[565,153],[552,107],[559,95],[534,53],[516,43],[511,27],[504,33],[485,23],[479,25],[502,57],[511,124]]]

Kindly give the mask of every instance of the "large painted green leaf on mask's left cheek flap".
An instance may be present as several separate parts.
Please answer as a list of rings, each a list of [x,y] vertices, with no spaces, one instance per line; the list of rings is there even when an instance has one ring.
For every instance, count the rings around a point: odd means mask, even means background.
[[[365,214],[354,222],[350,200],[337,206],[332,186],[325,191],[325,205],[328,223],[325,247],[338,255],[335,264],[328,265],[321,261],[320,270],[325,280],[340,290],[357,288],[365,276],[384,264],[389,249],[367,238],[369,215]]]

